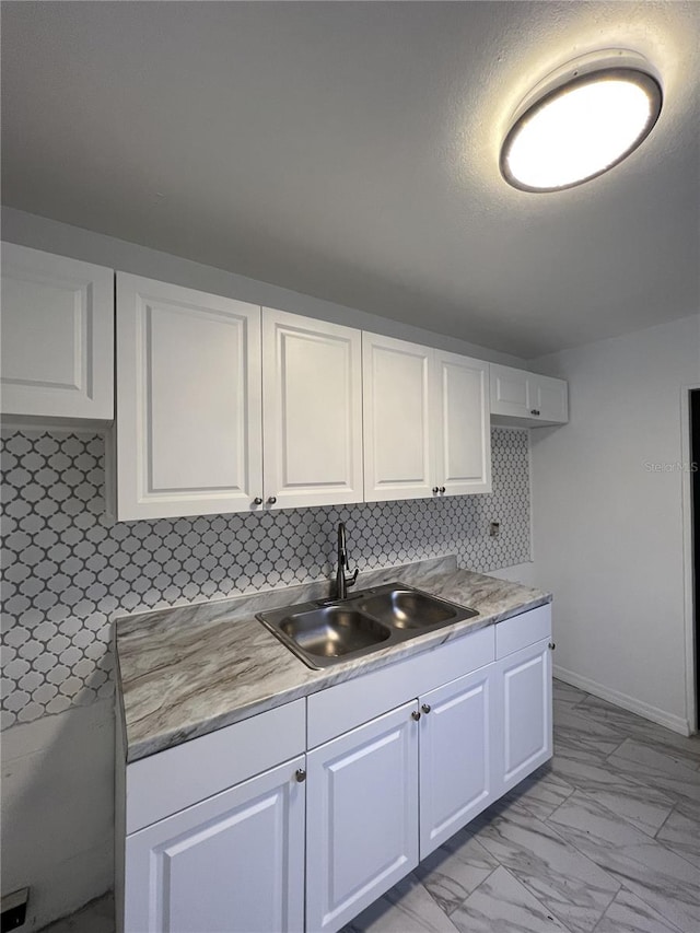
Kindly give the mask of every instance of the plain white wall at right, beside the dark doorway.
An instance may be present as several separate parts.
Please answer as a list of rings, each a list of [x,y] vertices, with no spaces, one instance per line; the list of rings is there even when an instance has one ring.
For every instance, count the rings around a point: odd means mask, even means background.
[[[537,584],[555,593],[555,673],[688,727],[681,387],[692,316],[533,361],[569,380],[570,423],[530,433]]]

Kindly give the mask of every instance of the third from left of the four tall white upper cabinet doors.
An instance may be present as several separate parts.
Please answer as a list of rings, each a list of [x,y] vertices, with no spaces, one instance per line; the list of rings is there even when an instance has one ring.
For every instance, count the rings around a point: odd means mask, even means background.
[[[428,347],[362,334],[364,498],[433,495]]]

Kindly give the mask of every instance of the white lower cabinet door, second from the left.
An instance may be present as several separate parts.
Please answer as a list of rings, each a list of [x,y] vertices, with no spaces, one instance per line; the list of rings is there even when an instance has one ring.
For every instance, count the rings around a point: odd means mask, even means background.
[[[416,711],[405,703],[306,756],[310,933],[339,930],[418,864]]]

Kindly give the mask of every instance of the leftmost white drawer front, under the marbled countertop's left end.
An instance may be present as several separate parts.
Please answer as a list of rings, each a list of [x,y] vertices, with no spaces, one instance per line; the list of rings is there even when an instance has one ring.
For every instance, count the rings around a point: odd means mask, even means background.
[[[127,833],[305,750],[305,700],[294,700],[127,766]]]

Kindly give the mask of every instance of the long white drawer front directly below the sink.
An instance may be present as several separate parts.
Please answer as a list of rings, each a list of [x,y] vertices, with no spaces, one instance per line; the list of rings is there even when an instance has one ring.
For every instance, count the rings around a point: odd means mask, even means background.
[[[428,690],[456,680],[494,657],[493,626],[338,684],[308,698],[308,748],[354,728]]]

